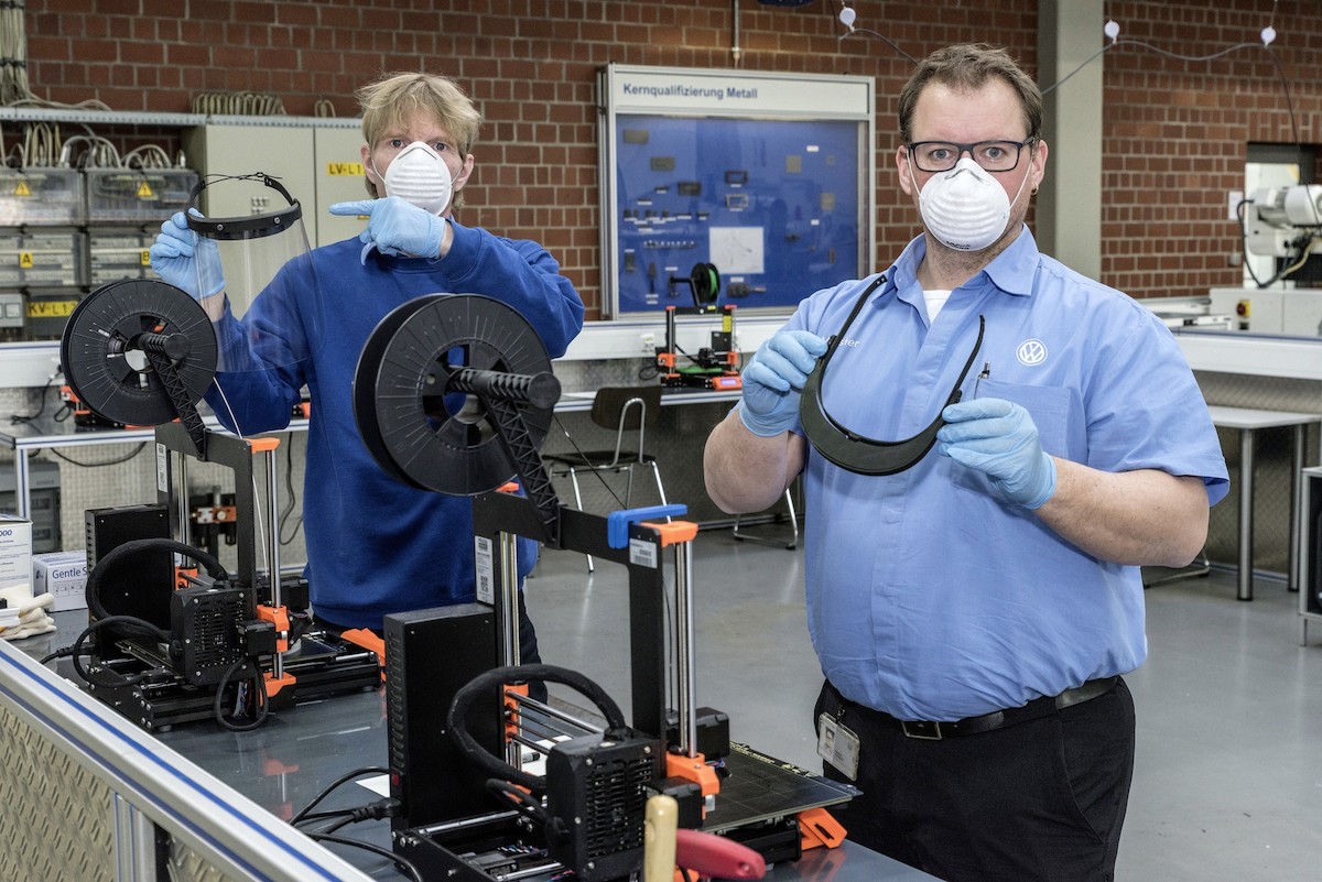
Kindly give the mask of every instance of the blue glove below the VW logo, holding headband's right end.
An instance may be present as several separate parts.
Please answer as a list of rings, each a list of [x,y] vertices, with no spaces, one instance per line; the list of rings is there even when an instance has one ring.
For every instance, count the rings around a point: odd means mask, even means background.
[[[1042,450],[1038,426],[1018,404],[973,399],[944,411],[939,450],[985,473],[1013,503],[1038,508],[1056,492],[1056,463]]]

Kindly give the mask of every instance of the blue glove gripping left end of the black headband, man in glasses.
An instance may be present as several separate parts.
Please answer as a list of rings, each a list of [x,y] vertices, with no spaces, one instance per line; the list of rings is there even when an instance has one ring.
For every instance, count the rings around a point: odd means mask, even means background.
[[[754,434],[771,437],[798,420],[798,395],[826,341],[812,331],[783,330],[758,347],[740,372],[743,405],[739,419]]]

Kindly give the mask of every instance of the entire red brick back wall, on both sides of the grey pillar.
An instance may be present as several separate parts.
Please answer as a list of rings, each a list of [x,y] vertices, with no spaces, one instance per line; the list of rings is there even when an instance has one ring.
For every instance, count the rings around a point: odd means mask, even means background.
[[[891,161],[895,94],[910,62],[862,30],[915,57],[986,40],[1010,48],[1031,71],[1036,3],[853,5],[861,32],[841,41],[838,0],[800,8],[739,0],[738,63],[878,78],[880,264],[916,228]],[[1257,42],[1268,21],[1280,32],[1274,57],[1284,77],[1260,46],[1207,62],[1128,44],[1103,55],[1103,281],[1140,297],[1239,284],[1229,267],[1239,234],[1224,219],[1225,191],[1243,189],[1248,141],[1296,141],[1282,78],[1298,139],[1322,136],[1322,9],[1315,0],[1116,0],[1107,15],[1121,22],[1125,41],[1195,57]],[[329,102],[350,116],[353,90],[378,73],[455,77],[488,120],[465,219],[546,244],[579,287],[590,318],[600,305],[596,69],[731,67],[736,44],[731,0],[28,0],[26,36],[34,94],[99,99],[118,111],[185,112],[198,92],[255,91],[279,96],[291,115],[311,116]],[[126,144],[144,137],[98,133]]]

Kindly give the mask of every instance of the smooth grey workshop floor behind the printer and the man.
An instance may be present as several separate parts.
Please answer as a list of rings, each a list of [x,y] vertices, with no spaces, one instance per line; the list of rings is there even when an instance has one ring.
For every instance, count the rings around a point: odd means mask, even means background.
[[[788,535],[787,527],[759,528]],[[694,544],[699,705],[736,741],[818,768],[821,675],[808,644],[802,552],[705,531]],[[1298,644],[1298,595],[1233,572],[1149,589],[1147,663],[1128,677],[1138,758],[1122,882],[1322,878],[1322,623]],[[582,671],[628,708],[624,569],[546,552],[527,582],[543,659]]]

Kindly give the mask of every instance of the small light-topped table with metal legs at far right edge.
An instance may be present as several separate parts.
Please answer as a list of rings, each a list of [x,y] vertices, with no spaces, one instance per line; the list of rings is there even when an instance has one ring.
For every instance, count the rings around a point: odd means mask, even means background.
[[[1300,482],[1303,474],[1303,430],[1315,423],[1322,423],[1322,413],[1301,413],[1296,411],[1259,411],[1255,408],[1208,405],[1212,424],[1225,429],[1237,429],[1240,436],[1240,486],[1239,486],[1239,590],[1241,601],[1253,599],[1253,448],[1260,429],[1290,428],[1290,527],[1289,527],[1289,573],[1286,586],[1294,592],[1300,588],[1300,506],[1302,494]]]

